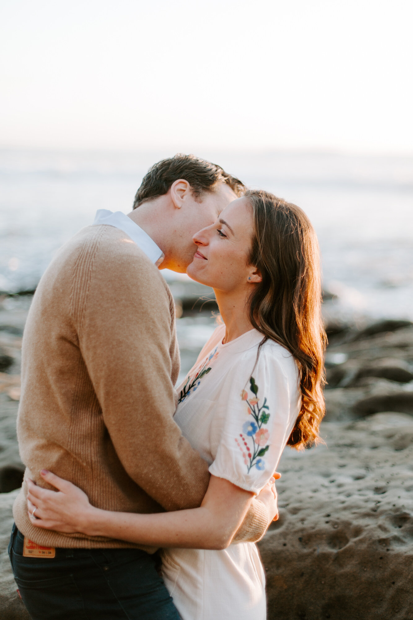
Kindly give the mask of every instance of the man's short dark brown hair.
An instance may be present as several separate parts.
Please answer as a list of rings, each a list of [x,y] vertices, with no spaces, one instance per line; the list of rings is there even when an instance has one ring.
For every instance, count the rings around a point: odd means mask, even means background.
[[[204,192],[213,192],[220,183],[229,185],[238,197],[246,191],[245,185],[225,172],[221,166],[194,155],[177,153],[174,157],[162,159],[149,168],[143,177],[141,187],[136,192],[133,208],[136,209],[148,200],[163,196],[178,179],[185,179],[190,184],[195,200]]]

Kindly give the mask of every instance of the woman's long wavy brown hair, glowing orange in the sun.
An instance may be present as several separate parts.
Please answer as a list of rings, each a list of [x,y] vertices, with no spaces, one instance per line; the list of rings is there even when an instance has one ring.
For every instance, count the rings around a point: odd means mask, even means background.
[[[297,449],[318,443],[325,413],[321,269],[313,226],[296,205],[263,191],[245,194],[253,213],[249,262],[262,282],[250,298],[250,321],[264,340],[280,343],[300,369],[302,404],[288,439]]]

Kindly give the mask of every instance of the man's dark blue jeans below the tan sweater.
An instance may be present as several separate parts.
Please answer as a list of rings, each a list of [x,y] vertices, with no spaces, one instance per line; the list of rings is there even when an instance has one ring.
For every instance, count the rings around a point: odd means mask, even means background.
[[[9,557],[33,620],[179,620],[156,570],[140,549],[56,549],[54,558],[23,557],[13,526]]]

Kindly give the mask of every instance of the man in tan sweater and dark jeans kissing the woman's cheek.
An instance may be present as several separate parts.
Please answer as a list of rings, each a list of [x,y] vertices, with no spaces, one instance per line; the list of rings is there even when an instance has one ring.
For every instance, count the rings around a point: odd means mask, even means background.
[[[107,510],[200,505],[208,465],[172,419],[179,352],[158,267],[185,272],[193,234],[243,190],[219,166],[177,155],[149,170],[129,216],[100,210],[61,248],[25,327],[17,422],[25,478],[40,484],[46,467]],[[237,539],[259,539],[275,511],[252,502]],[[179,618],[155,549],[35,528],[25,482],[14,518],[9,553],[33,620]]]

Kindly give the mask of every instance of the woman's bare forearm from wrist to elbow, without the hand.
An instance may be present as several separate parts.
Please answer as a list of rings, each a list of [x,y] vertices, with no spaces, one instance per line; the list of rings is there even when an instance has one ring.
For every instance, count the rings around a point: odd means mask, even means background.
[[[243,516],[234,524],[234,520],[218,518],[205,506],[151,515],[93,508],[82,531],[148,546],[225,549]]]

